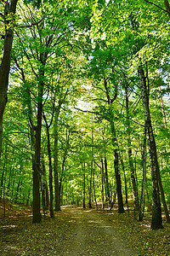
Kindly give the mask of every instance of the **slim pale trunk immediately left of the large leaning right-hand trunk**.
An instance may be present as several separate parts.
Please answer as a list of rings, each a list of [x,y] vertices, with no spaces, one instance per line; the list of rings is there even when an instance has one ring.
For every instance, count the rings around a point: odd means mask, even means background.
[[[139,221],[142,221],[144,218],[144,189],[146,183],[146,127],[144,127],[144,146],[142,153],[143,160],[143,180],[142,180],[142,189],[140,197],[140,207],[139,207]]]

